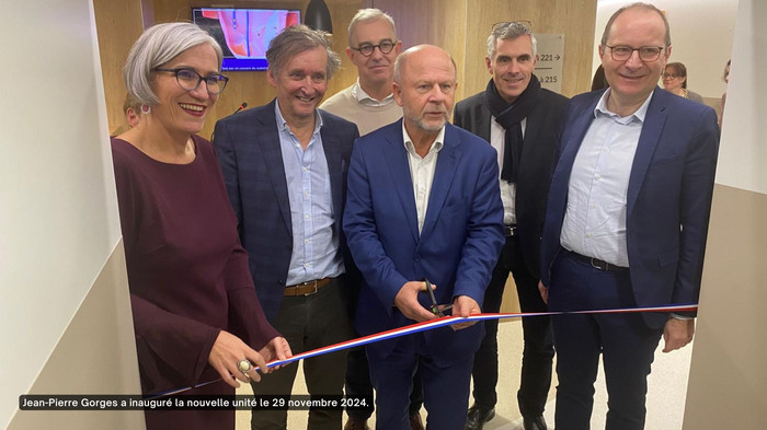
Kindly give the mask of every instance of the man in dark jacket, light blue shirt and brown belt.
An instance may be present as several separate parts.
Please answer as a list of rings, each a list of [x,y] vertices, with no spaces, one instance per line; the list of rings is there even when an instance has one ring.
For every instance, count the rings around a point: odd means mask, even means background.
[[[321,32],[291,26],[266,51],[277,98],[216,124],[214,143],[259,299],[294,352],[351,336],[345,274],[354,267],[341,230],[357,127],[317,109],[340,60]],[[307,359],[309,394],[342,395],[345,351]],[[252,384],[289,395],[298,364]],[[340,429],[341,410],[312,409],[312,429]],[[252,428],[285,428],[286,410],[254,410]]]

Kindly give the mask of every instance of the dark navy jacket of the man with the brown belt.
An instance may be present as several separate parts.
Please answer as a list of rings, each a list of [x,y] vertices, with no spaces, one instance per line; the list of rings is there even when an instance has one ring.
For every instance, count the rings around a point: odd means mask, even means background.
[[[273,322],[283,297],[293,252],[293,226],[285,164],[279,148],[276,101],[243,111],[216,123],[214,146],[224,172],[229,200],[234,208],[242,246],[248,251],[251,276],[264,313]],[[346,195],[346,172],[357,126],[335,115],[322,116],[322,147],[328,160],[333,196],[334,233],[347,257],[341,229]],[[353,269],[344,259],[346,271]]]

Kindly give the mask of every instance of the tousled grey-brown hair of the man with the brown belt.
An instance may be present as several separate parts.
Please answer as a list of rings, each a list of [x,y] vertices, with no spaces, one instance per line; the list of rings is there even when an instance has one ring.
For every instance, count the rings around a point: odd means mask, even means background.
[[[324,32],[311,30],[304,24],[286,27],[270,42],[266,49],[268,72],[273,77],[278,75],[290,58],[317,47],[322,47],[328,53],[327,73],[328,79],[332,78],[341,67],[341,57],[331,49],[330,39]]]

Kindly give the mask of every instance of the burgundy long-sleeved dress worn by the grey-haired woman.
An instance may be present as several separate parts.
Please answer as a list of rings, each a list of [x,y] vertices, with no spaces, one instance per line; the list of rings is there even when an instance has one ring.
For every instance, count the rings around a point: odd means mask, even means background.
[[[240,246],[237,219],[207,140],[169,164],[112,139],[117,201],[145,394],[219,379],[208,355],[225,329],[259,350],[279,334],[266,322]],[[234,394],[222,381],[186,394]],[[148,429],[233,429],[233,410],[146,414]]]

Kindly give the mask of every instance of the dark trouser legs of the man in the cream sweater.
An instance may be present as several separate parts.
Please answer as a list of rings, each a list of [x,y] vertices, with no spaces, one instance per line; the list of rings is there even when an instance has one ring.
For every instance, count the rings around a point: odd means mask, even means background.
[[[353,348],[348,351],[348,360],[346,361],[346,395],[373,398],[370,368],[367,363],[365,347]],[[421,375],[416,372],[415,376],[413,376],[413,390],[410,394],[410,415],[420,414],[422,405],[423,386],[421,385]],[[374,407],[370,404],[368,408],[351,409],[346,414],[355,420],[364,421],[373,416],[373,411]]]

